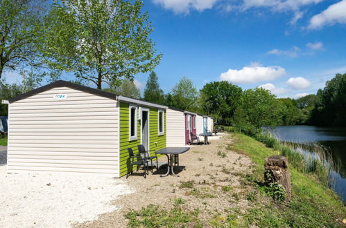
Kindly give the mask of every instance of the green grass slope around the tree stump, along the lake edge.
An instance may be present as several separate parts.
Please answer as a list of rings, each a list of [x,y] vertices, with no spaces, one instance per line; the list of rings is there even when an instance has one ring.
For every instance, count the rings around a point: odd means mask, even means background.
[[[255,182],[263,182],[264,159],[279,152],[243,134],[232,133],[232,138],[234,142],[230,144],[229,149],[248,155],[256,164]],[[293,200],[279,207],[276,207],[278,205],[273,202],[268,202],[273,206],[271,208],[268,207],[270,205],[257,205],[254,211],[250,211],[247,215],[249,220],[255,221],[260,226],[333,227],[342,225],[340,219],[343,219],[346,210],[336,193],[324,187],[311,175],[303,175],[292,168],[290,171]],[[261,216],[257,214],[258,211],[265,211],[265,213]]]

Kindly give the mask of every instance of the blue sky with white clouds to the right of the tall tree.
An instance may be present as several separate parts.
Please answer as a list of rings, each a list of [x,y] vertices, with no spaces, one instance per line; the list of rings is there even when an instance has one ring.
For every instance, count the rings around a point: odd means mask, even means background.
[[[346,0],[145,0],[143,10],[165,93],[185,76],[198,89],[227,80],[296,98],[346,73]],[[141,91],[148,75],[135,76]]]

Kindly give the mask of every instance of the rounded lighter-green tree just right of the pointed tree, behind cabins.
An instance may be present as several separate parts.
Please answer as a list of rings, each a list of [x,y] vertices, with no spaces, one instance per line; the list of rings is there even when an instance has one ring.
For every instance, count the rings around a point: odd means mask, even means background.
[[[182,77],[171,91],[171,104],[175,108],[196,111],[198,108],[197,99],[198,91],[187,77]]]

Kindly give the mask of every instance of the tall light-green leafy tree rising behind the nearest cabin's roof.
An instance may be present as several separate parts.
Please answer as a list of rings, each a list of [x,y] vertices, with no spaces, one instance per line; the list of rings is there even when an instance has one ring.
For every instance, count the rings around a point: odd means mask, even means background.
[[[136,0],[62,0],[46,17],[44,62],[79,79],[111,87],[159,63],[148,13]]]

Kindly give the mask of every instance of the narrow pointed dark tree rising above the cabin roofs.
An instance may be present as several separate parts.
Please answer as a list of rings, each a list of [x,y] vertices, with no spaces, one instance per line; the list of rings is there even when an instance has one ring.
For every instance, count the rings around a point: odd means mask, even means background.
[[[152,71],[146,82],[146,88],[144,89],[144,99],[148,102],[155,102],[162,104],[164,102],[164,91],[159,88],[159,82],[157,82],[157,75]]]

